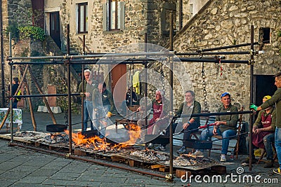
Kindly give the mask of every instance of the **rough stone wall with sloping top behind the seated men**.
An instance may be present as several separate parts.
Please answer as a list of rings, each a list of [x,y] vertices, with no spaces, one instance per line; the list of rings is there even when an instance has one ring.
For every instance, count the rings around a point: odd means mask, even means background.
[[[254,57],[255,75],[273,75],[281,70],[280,64],[280,1],[210,0],[204,10],[192,18],[174,39],[177,52],[250,43],[250,27],[254,25],[254,41],[259,41],[259,29],[270,27],[270,43],[263,46],[265,54]],[[249,51],[250,46],[226,51]],[[255,46],[259,50],[259,46]],[[249,55],[226,55],[226,60],[249,60]],[[195,95],[203,104],[202,63],[183,62],[194,85]],[[248,64],[204,63],[209,109],[221,105],[220,95],[230,92],[233,103],[249,106],[250,66]],[[261,91],[261,90],[259,90]]]

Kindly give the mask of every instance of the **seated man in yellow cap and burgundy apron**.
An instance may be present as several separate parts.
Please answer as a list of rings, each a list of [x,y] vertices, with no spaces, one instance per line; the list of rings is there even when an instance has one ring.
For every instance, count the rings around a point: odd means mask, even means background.
[[[269,95],[263,97],[263,103],[270,99]],[[254,148],[266,148],[266,158],[270,161],[264,165],[265,168],[273,167],[273,148],[274,143],[274,133],[275,132],[275,121],[276,121],[276,111],[275,107],[269,106],[259,112],[258,117],[253,125],[253,134],[251,137],[251,156],[253,158],[252,163],[257,160],[254,157]],[[249,151],[249,136],[247,137],[247,150]],[[247,165],[249,163],[249,158],[242,161],[242,165]]]

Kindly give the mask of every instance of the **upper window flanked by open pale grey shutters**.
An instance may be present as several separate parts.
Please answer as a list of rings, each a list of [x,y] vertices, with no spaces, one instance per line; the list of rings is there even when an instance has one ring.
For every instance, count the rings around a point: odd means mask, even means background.
[[[124,29],[124,15],[124,1],[107,0],[107,3],[103,4],[103,30]]]

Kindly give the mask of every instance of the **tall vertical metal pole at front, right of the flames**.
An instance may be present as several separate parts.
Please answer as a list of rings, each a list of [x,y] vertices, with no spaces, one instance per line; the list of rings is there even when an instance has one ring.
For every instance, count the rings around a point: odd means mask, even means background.
[[[173,13],[170,13],[170,43],[169,43],[169,50],[173,51]],[[173,56],[169,57],[169,83],[171,86],[170,89],[170,113],[173,111]],[[173,168],[173,120],[170,122],[170,168],[169,168],[169,174],[170,174],[170,179],[173,179],[173,173],[174,173],[174,168]]]

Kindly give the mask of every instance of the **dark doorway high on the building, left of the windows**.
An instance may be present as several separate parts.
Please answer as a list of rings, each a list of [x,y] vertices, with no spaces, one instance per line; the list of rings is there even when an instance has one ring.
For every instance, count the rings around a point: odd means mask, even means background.
[[[58,12],[50,13],[50,36],[60,48],[60,15]]]

